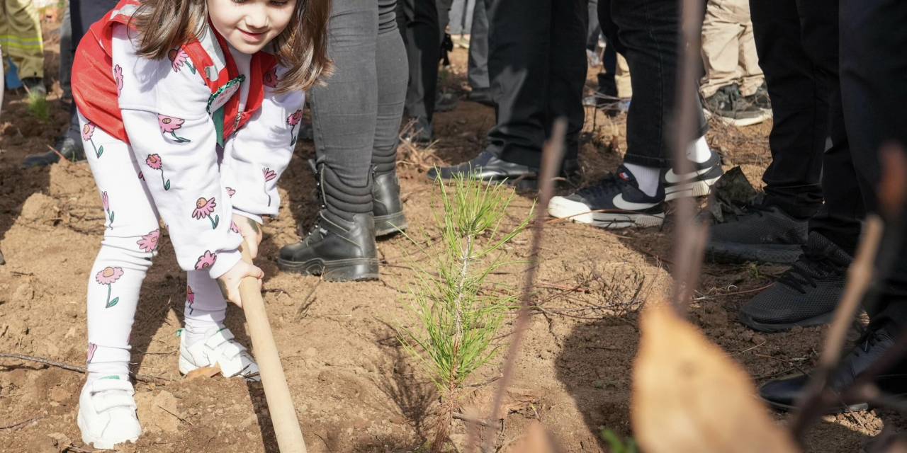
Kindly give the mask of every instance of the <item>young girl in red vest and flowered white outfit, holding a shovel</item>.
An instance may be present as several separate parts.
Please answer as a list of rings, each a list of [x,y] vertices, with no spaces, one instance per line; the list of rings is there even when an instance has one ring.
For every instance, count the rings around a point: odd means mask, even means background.
[[[304,94],[329,71],[329,0],[122,0],[76,53],[73,97],[105,211],[88,283],[88,379],[78,425],[112,448],[141,434],[130,332],[159,219],[188,273],[180,372],[258,367],[223,325],[239,280],[262,277],[264,216],[296,143]]]

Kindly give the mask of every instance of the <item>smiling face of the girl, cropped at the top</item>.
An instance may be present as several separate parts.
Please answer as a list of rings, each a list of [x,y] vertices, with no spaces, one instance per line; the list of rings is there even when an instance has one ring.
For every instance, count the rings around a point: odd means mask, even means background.
[[[211,24],[241,53],[257,53],[287,28],[297,0],[206,0]]]

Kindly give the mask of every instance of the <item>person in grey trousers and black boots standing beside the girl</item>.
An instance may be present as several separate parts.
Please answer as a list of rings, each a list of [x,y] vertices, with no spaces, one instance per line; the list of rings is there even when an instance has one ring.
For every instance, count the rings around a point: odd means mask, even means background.
[[[395,164],[407,68],[395,4],[334,2],[327,50],[336,72],[309,99],[321,210],[308,236],[280,249],[284,271],[375,279],[375,236],[406,227]]]

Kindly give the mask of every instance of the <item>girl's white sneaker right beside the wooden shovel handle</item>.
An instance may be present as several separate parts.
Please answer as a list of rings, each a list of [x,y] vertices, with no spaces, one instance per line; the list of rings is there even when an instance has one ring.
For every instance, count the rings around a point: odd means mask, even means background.
[[[220,366],[225,378],[242,376],[249,381],[261,381],[258,363],[246,347],[233,340],[228,328],[213,328],[205,333],[205,340],[186,345],[186,333],[180,332],[180,373],[204,367]]]

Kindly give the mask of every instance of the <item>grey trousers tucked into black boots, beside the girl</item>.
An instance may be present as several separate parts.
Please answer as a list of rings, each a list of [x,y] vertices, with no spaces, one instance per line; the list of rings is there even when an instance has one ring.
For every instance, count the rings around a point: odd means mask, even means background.
[[[372,212],[372,168],[393,171],[406,94],[406,51],[396,0],[337,0],[328,24],[334,75],[309,92],[325,205],[337,216]]]

